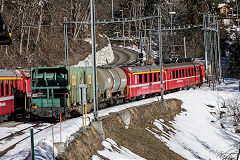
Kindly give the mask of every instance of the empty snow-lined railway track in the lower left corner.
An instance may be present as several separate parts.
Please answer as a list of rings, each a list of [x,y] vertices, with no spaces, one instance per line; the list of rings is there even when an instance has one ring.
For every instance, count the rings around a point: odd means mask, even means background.
[[[4,144],[7,141],[10,141],[10,140],[14,139],[15,137],[22,136],[22,138],[20,138],[20,140],[17,140],[17,142],[12,142],[11,141],[12,144],[11,144],[11,142],[7,142],[7,143],[10,143],[10,145],[6,146],[4,148],[1,148],[1,150],[0,150],[0,157],[3,156],[4,154],[6,154],[8,151],[12,150],[17,144],[19,144],[19,143],[23,142],[24,140],[30,138],[29,132],[27,132],[27,131],[29,131],[30,128],[37,128],[38,129],[38,131],[36,131],[34,133],[34,135],[35,135],[35,134],[37,134],[39,132],[44,131],[45,129],[48,129],[48,128],[52,127],[52,125],[49,124],[49,125],[47,125],[46,127],[43,127],[43,128],[38,128],[38,127],[41,127],[41,123],[40,122],[37,123],[37,124],[34,124],[32,126],[26,127],[24,129],[21,129],[21,130],[15,132],[15,133],[12,133],[12,134],[10,134],[10,135],[8,135],[6,137],[1,138],[0,139],[0,144]]]

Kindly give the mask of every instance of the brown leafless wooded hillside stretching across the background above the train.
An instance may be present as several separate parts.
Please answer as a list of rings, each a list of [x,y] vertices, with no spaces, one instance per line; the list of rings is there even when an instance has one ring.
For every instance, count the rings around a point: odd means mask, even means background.
[[[111,18],[111,0],[96,0],[96,19]],[[144,17],[157,14],[157,6],[162,9],[162,24],[171,24],[170,11],[173,16],[173,26],[187,24],[202,24],[202,13],[215,12],[216,0],[114,0],[114,17]],[[63,18],[70,21],[90,20],[90,1],[84,0],[3,0],[0,11],[12,33],[13,44],[1,46],[0,67],[31,67],[65,64]],[[97,35],[106,34],[114,37],[115,32],[122,36],[122,24],[97,25]],[[125,24],[125,36],[138,37],[139,28],[157,28],[157,19],[144,20]],[[91,45],[86,39],[91,38],[90,26],[87,24],[71,24],[68,26],[70,64],[77,64],[91,53]],[[169,36],[163,35],[163,56],[172,56],[170,44],[177,45],[174,52],[183,57],[183,38],[186,37],[188,57],[204,57],[203,31],[201,28],[183,30]],[[148,37],[143,32],[143,37]],[[174,39],[174,40],[173,40]],[[158,35],[153,34],[153,49],[158,50]],[[97,36],[97,50],[108,43],[106,37]],[[114,42],[115,43],[115,42]],[[148,40],[144,39],[144,49],[148,53]],[[117,42],[122,44],[122,42]],[[139,40],[127,41],[127,45],[139,45]]]

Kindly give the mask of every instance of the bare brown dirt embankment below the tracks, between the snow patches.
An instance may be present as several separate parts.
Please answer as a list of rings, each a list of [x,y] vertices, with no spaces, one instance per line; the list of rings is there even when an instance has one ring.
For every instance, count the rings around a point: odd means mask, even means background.
[[[102,125],[106,138],[113,139],[119,146],[124,146],[146,159],[184,159],[146,130],[146,128],[156,128],[153,125],[156,119],[164,119],[164,123],[172,127],[169,121],[183,111],[182,102],[170,99],[166,100],[166,104],[168,110],[159,102],[128,109],[131,119],[128,129],[125,128],[126,125],[121,119],[121,113],[114,113],[103,118]],[[174,129],[170,131],[167,128],[164,130],[166,132],[174,131]],[[161,133],[159,132],[159,134]],[[96,130],[89,127],[84,133],[78,134],[62,158],[67,160],[91,159],[91,156],[95,154],[104,159],[97,153],[97,150],[103,150],[101,142],[102,139]]]

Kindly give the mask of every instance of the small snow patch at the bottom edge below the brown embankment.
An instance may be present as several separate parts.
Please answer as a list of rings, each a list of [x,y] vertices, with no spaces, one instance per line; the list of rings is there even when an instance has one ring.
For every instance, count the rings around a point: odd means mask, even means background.
[[[104,146],[104,150],[97,151],[98,154],[110,160],[114,159],[145,160],[144,158],[131,152],[129,149],[123,146],[118,146],[117,143],[110,138],[107,138],[106,141],[103,141],[102,145]],[[97,155],[92,156],[92,160],[95,160],[97,158],[99,158]]]

